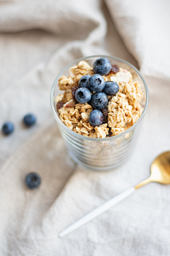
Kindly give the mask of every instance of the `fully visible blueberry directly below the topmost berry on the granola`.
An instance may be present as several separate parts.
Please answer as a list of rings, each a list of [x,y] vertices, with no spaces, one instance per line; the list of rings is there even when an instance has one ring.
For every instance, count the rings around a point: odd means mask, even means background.
[[[105,80],[101,75],[91,75],[89,78],[89,87],[93,92],[100,92],[105,86]]]

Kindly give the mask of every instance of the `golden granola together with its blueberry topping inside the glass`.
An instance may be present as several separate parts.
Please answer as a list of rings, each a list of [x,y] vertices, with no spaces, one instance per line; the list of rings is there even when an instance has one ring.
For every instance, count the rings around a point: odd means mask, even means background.
[[[140,82],[107,58],[91,67],[81,60],[59,79],[64,91],[55,98],[61,121],[91,138],[113,137],[132,127],[142,114]],[[109,63],[108,63],[109,62]]]

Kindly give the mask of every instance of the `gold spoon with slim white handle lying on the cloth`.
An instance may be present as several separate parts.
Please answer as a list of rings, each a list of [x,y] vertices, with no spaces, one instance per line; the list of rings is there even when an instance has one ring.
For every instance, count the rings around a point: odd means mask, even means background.
[[[132,192],[134,192],[137,188],[145,186],[147,183],[150,183],[150,182],[170,184],[170,151],[164,152],[159,156],[157,156],[156,159],[154,159],[151,166],[151,174],[149,178],[146,178],[145,181],[138,183],[136,186],[132,188],[128,188],[123,193],[120,193],[119,195],[106,201],[106,203],[103,203],[101,206],[98,206],[96,209],[92,210],[90,213],[87,213],[84,217],[77,220],[68,228],[65,228],[59,234],[59,236],[63,237],[64,235],[67,235],[73,230],[79,228],[81,225],[84,225],[84,223],[87,223],[89,220],[95,218],[99,214],[111,208],[111,206],[114,206],[116,203],[119,203],[120,201],[122,201],[124,198],[126,198]]]

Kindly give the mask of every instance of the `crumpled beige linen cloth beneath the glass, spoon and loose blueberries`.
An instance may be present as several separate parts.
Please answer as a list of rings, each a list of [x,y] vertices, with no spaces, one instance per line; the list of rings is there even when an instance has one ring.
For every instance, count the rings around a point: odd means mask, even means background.
[[[11,136],[0,135],[0,255],[170,255],[170,186],[156,183],[57,236],[147,178],[154,157],[170,149],[169,12],[169,1],[159,0],[0,1],[0,125],[11,120],[16,127]],[[67,156],[50,88],[72,60],[105,53],[138,63],[149,107],[128,163],[95,173]],[[21,122],[28,112],[38,117],[31,129]],[[33,191],[24,181],[31,171],[42,177]]]

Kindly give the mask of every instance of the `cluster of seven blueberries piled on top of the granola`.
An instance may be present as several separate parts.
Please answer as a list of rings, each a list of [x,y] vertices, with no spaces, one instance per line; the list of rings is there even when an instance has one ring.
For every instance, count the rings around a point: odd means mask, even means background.
[[[119,91],[117,82],[105,82],[101,75],[108,75],[111,71],[111,62],[107,58],[98,58],[94,62],[94,75],[84,75],[79,80],[79,89],[75,92],[75,100],[84,104],[89,103],[93,110],[89,123],[96,127],[103,123],[103,110],[108,105],[108,96]]]

